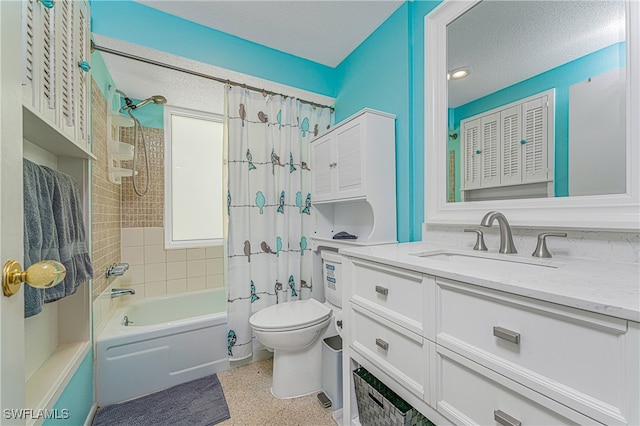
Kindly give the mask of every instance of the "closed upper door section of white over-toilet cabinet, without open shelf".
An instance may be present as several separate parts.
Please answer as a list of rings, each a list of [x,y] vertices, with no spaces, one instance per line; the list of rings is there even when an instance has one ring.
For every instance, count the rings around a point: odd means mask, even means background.
[[[364,109],[311,141],[314,203],[395,196],[395,116]]]

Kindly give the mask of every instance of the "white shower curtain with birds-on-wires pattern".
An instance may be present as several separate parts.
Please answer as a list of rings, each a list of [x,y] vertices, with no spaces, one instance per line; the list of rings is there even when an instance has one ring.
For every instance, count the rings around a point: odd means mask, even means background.
[[[260,347],[253,313],[313,291],[310,141],[329,127],[331,111],[233,86],[226,109],[227,349],[240,360]]]

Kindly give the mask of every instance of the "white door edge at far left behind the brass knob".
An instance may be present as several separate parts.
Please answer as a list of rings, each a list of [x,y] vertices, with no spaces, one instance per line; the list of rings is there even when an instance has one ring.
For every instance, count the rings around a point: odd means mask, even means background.
[[[0,266],[22,263],[21,2],[0,1]],[[0,423],[25,406],[24,297],[0,295]],[[9,413],[10,414],[10,413]]]

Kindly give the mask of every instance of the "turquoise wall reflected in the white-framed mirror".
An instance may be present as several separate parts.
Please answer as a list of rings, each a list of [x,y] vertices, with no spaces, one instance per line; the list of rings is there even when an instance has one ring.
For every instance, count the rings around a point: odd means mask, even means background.
[[[545,90],[555,89],[555,179],[556,197],[569,195],[569,88],[581,81],[616,68],[624,68],[626,44],[611,45],[560,67],[506,87],[453,111],[451,128],[460,121]],[[458,139],[459,140],[459,139]],[[456,169],[459,170],[459,169]],[[459,188],[459,187],[458,187]]]

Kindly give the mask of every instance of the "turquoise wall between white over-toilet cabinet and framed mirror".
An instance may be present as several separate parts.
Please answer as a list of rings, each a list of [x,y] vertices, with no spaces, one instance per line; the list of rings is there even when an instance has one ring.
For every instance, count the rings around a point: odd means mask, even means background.
[[[365,107],[396,115],[400,242],[420,240],[424,221],[424,16],[439,3],[404,3],[336,68],[336,121]]]

